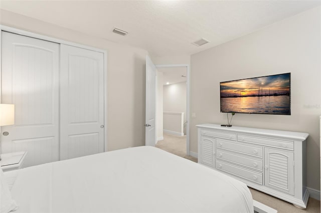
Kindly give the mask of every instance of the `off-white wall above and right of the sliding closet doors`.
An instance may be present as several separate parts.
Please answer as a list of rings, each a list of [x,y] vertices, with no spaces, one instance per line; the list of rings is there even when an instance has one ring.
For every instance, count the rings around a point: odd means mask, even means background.
[[[1,10],[0,23],[106,49],[108,150],[145,144],[145,57],[147,51]]]

